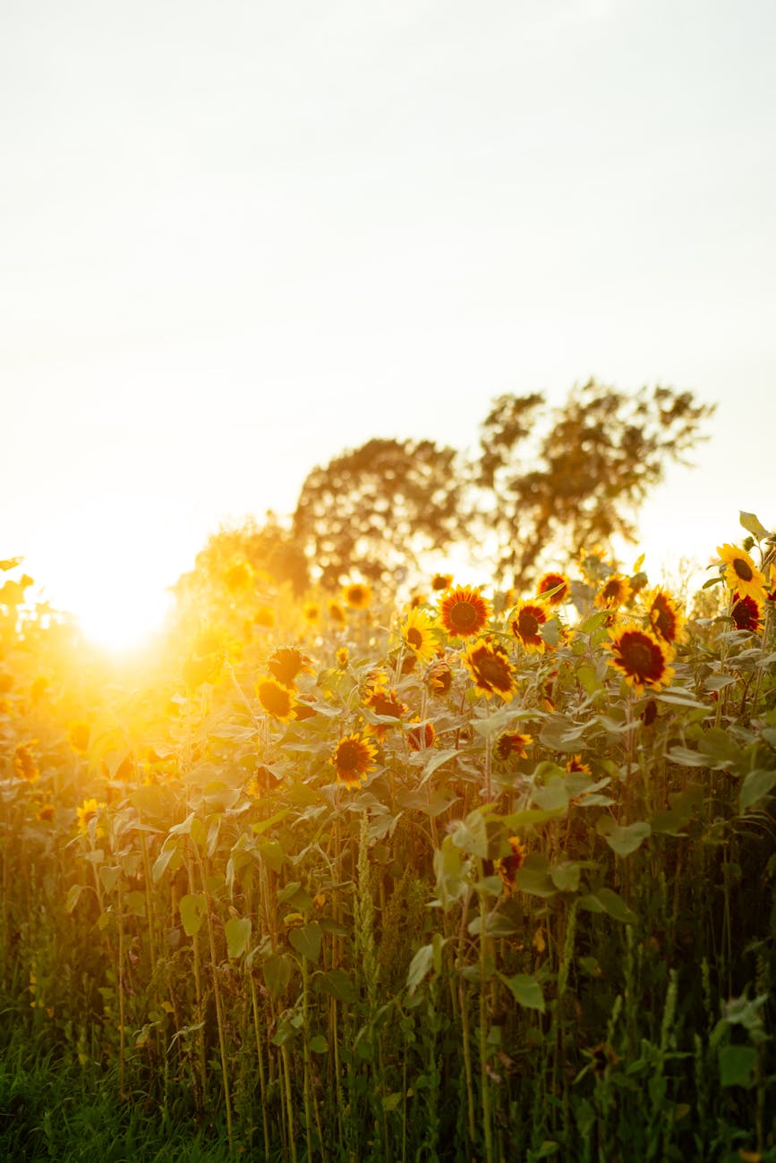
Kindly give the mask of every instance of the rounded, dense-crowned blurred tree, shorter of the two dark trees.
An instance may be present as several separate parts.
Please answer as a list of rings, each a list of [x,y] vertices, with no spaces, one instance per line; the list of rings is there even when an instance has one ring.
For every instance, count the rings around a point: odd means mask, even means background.
[[[293,514],[322,585],[351,571],[386,580],[458,534],[463,480],[458,454],[429,440],[370,440],[307,476]]]

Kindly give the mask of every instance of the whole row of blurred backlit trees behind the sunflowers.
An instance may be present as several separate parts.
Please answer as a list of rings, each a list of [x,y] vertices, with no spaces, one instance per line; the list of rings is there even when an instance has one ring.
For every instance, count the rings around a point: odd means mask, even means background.
[[[640,506],[669,463],[688,463],[713,411],[690,392],[595,379],[560,407],[541,392],[499,395],[474,450],[378,437],[346,450],[312,469],[289,522],[270,513],[221,530],[181,583],[240,558],[299,592],[354,576],[394,584],[429,550],[464,544],[487,547],[489,576],[522,588],[550,561],[633,540]]]

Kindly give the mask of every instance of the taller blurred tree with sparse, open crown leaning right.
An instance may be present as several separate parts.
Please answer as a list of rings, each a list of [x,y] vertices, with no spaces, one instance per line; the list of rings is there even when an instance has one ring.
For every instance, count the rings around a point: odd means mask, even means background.
[[[496,399],[474,476],[500,579],[526,586],[544,550],[574,552],[615,534],[634,540],[639,506],[669,461],[686,463],[713,411],[690,392],[626,394],[595,379],[549,415],[540,393]]]

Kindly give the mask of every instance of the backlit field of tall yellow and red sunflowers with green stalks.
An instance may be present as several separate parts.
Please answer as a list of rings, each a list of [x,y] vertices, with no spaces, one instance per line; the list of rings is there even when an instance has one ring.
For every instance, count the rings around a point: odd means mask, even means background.
[[[109,665],[0,563],[0,1151],[776,1161],[776,538]],[[713,552],[713,547],[711,547]]]

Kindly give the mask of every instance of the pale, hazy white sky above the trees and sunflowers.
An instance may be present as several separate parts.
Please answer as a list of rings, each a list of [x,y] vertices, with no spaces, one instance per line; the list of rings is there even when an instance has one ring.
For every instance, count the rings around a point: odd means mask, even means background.
[[[717,404],[647,568],[776,527],[773,0],[5,0],[0,557],[129,641],[221,521],[595,376]]]

